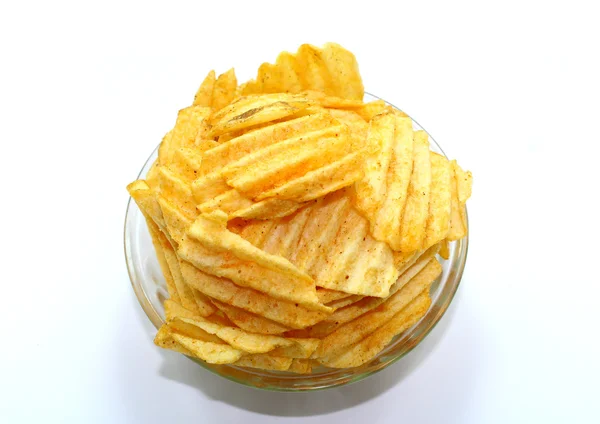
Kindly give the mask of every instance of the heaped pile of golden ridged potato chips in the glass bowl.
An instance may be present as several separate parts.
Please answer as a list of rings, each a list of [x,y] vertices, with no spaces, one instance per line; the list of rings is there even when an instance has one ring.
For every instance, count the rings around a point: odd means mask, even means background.
[[[466,235],[471,174],[363,94],[333,43],[241,85],[208,74],[127,187],[170,295],[157,345],[310,373],[368,362],[427,312],[438,255]]]

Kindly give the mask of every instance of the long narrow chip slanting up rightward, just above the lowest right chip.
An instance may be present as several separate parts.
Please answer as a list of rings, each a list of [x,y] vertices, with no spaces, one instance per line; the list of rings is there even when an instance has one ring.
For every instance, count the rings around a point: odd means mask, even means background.
[[[427,290],[441,272],[442,267],[437,261],[429,262],[405,287],[390,296],[384,303],[325,337],[316,352],[319,362],[328,365],[330,360],[345,348],[358,343],[388,322],[420,293]]]

